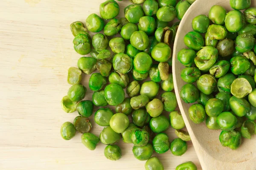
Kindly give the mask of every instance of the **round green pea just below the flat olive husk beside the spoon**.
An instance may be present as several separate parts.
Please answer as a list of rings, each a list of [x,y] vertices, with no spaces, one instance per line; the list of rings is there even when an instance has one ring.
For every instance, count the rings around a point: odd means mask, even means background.
[[[175,156],[183,155],[187,149],[188,149],[188,144],[186,143],[186,141],[183,141],[180,138],[175,138],[171,142],[170,150],[172,154]]]

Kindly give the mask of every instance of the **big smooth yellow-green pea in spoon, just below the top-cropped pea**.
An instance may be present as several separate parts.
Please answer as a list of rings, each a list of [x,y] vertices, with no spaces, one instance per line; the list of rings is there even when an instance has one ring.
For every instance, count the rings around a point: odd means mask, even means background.
[[[238,32],[245,25],[245,17],[241,11],[229,11],[225,17],[225,26],[227,31]]]

